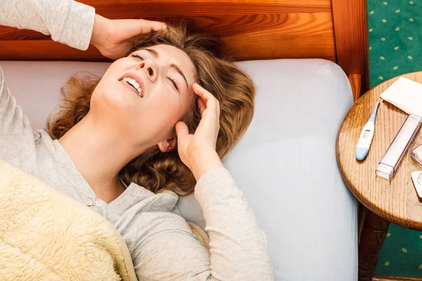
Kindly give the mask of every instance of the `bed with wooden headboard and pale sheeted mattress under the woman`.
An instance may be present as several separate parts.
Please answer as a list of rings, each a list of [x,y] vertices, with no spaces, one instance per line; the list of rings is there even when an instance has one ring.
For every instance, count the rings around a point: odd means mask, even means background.
[[[257,87],[252,124],[224,164],[267,235],[277,280],[357,280],[357,201],[338,171],[335,141],[369,86],[366,2],[80,2],[106,18],[184,18],[224,39]],[[72,74],[101,75],[110,63],[93,46],[78,51],[0,26],[6,85],[34,128],[44,127]],[[179,209],[205,227],[193,196],[181,198]]]

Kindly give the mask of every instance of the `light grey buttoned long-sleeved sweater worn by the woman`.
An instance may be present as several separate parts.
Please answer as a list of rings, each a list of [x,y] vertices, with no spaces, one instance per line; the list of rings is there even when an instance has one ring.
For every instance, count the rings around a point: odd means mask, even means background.
[[[93,7],[72,0],[1,0],[0,4],[0,25],[51,34],[54,41],[81,50],[89,46],[94,15]],[[155,195],[131,183],[109,204],[96,198],[60,143],[44,129],[32,129],[1,68],[0,159],[91,206],[113,223],[129,248],[139,280],[275,278],[265,235],[229,171],[213,169],[196,184],[195,196],[210,235],[208,251],[180,216],[174,192]]]

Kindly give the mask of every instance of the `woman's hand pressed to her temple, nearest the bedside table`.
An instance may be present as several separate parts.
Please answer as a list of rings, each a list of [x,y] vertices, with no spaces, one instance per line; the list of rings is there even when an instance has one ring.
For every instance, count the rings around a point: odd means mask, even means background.
[[[190,134],[184,122],[177,122],[177,150],[179,157],[191,169],[196,181],[211,169],[224,166],[215,151],[219,132],[219,101],[198,84],[193,91],[199,96],[200,123],[194,134]]]

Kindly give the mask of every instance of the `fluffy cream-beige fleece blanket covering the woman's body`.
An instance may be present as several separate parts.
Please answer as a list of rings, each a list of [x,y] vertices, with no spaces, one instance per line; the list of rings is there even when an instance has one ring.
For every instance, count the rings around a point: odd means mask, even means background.
[[[103,216],[0,161],[1,280],[136,280]]]

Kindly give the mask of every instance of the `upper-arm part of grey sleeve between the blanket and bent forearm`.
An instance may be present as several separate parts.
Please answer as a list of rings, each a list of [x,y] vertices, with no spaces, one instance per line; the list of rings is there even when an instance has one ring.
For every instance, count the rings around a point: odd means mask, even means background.
[[[218,280],[212,277],[210,252],[184,218],[162,213],[148,228],[156,229],[139,239],[132,254],[138,280]]]

